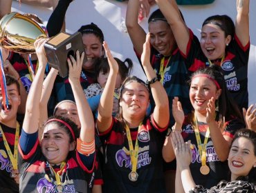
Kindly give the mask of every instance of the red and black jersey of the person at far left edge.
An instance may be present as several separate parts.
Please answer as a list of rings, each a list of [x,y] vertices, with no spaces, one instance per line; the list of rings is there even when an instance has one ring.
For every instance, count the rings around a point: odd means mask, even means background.
[[[6,125],[1,124],[1,128],[6,136],[10,150],[14,150],[15,145],[15,128],[9,128]],[[6,147],[3,144],[3,136],[0,132],[0,192],[19,192],[19,184],[12,179],[12,163],[6,151]]]

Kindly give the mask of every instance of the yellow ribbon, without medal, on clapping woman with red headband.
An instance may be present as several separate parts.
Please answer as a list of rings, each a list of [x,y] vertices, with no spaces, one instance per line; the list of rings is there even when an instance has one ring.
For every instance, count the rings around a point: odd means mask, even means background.
[[[199,134],[199,126],[196,120],[196,116],[194,116],[194,134],[196,134],[196,142],[197,146],[199,148],[199,154],[201,156],[201,163],[202,165],[206,165],[206,143],[208,141],[208,138],[210,136],[210,129],[209,127],[207,128],[206,134],[205,134],[205,139],[203,141],[203,144],[201,143],[201,138]]]

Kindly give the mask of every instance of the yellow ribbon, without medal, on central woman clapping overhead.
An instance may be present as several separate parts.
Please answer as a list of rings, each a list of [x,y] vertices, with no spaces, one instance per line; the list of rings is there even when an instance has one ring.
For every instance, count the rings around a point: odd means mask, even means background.
[[[140,132],[141,125],[142,125],[142,123],[140,123],[140,125],[138,126],[138,133]],[[136,142],[135,142],[135,147],[134,147],[134,145],[132,144],[131,132],[130,132],[128,125],[125,126],[125,130],[126,130],[126,134],[127,134],[127,140],[128,140],[128,144],[129,144],[129,152],[130,152],[130,156],[131,156],[131,172],[136,172],[137,163],[138,163],[138,134],[136,137]]]

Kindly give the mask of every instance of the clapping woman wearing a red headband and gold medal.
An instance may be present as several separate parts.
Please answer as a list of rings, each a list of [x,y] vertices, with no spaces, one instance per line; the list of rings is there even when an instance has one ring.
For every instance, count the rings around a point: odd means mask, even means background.
[[[192,74],[192,114],[184,116],[178,97],[172,101],[176,121],[172,130],[182,132],[184,140],[191,141],[193,179],[208,188],[226,179],[230,142],[235,132],[244,128],[244,119],[229,96],[219,70],[219,66],[212,65]],[[163,157],[165,161],[175,158],[170,136],[165,140]]]

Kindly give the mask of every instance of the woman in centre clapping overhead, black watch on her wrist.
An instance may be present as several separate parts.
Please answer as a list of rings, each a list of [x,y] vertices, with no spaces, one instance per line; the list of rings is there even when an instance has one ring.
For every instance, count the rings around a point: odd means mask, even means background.
[[[97,119],[100,137],[105,142],[104,192],[165,192],[161,148],[170,117],[169,105],[165,89],[149,63],[149,38],[147,34],[142,54],[148,84],[137,77],[125,79],[116,117],[111,115],[119,67],[107,43],[103,44],[110,68]],[[149,90],[156,104],[151,116],[147,115]]]

